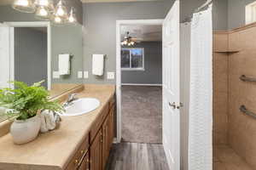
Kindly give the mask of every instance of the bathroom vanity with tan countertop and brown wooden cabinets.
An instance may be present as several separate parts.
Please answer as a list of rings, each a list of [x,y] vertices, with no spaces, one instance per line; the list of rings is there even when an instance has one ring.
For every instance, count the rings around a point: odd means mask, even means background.
[[[84,85],[68,94],[96,98],[101,105],[81,116],[61,116],[61,126],[40,133],[34,141],[17,145],[9,133],[0,137],[0,170],[102,170],[113,144],[115,88],[112,85]]]

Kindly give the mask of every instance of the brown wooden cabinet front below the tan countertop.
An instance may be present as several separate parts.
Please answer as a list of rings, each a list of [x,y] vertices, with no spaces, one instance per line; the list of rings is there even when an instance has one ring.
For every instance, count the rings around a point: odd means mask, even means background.
[[[103,170],[108,161],[114,137],[114,102],[103,109],[91,127],[90,134],[68,163],[65,170]]]

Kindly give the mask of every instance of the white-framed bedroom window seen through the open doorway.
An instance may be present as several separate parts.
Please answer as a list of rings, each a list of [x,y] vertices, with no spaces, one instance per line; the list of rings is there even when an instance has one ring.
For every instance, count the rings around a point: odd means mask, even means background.
[[[144,48],[122,48],[121,67],[123,71],[144,71]]]

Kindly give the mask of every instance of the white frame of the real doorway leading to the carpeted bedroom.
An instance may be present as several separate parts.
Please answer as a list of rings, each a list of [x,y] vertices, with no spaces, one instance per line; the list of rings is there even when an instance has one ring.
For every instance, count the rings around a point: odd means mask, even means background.
[[[125,25],[157,25],[163,26],[164,20],[116,20],[116,105],[117,105],[117,139],[120,143],[122,138],[122,111],[121,111],[121,38],[120,29]]]

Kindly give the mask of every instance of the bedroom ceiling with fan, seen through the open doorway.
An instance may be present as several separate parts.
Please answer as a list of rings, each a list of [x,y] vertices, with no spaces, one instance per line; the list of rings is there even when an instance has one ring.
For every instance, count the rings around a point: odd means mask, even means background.
[[[132,38],[140,42],[160,42],[162,41],[162,26],[121,26],[121,40],[124,40],[126,32]]]

